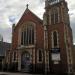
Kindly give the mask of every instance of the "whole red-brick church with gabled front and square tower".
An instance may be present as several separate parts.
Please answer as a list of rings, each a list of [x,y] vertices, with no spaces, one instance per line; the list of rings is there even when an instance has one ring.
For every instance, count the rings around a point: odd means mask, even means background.
[[[43,20],[28,5],[12,26],[8,69],[21,72],[73,73],[73,38],[65,0],[45,0]]]

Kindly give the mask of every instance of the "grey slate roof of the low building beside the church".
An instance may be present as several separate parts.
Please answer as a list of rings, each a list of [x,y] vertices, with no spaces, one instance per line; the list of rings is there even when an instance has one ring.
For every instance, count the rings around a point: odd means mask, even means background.
[[[0,56],[5,56],[5,51],[11,48],[11,43],[0,41]]]

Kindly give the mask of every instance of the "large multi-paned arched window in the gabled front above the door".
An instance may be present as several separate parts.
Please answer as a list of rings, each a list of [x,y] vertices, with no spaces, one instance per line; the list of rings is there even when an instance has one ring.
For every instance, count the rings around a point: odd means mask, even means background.
[[[21,45],[34,44],[34,25],[27,24],[23,27],[21,33]]]

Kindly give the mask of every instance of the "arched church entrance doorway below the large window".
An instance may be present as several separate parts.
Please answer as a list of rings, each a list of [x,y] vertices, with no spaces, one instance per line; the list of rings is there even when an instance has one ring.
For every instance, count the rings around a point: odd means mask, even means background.
[[[29,72],[30,70],[30,54],[27,51],[21,56],[21,70],[23,72]]]

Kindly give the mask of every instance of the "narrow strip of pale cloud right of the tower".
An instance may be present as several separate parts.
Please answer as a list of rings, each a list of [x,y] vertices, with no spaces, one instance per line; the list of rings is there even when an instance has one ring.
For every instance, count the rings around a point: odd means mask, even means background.
[[[73,43],[75,43],[75,1],[66,0],[68,2],[70,26],[73,32]]]

